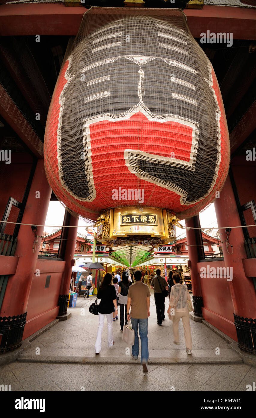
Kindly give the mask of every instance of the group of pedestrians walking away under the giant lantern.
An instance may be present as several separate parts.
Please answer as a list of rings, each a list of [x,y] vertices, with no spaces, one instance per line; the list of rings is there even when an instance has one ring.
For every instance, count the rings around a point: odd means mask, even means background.
[[[129,277],[130,276],[130,277]],[[150,316],[150,290],[148,284],[142,282],[143,276],[140,270],[133,274],[133,280],[130,281],[129,271],[122,273],[122,280],[118,280],[118,273],[114,276],[106,273],[98,290],[97,298],[100,299],[98,305],[99,326],[95,342],[95,354],[100,353],[101,336],[105,316],[108,323],[108,347],[113,347],[113,321],[118,319],[118,305],[120,306],[120,331],[131,320],[134,329],[135,340],[132,346],[133,359],[138,359],[139,355],[139,336],[141,338],[141,364],[143,372],[148,372],[148,317]],[[144,276],[145,280],[145,276]],[[147,280],[147,278],[146,278]],[[169,295],[169,307],[167,313],[171,310],[174,314],[173,336],[174,344],[179,344],[178,323],[182,319],[184,328],[184,337],[186,342],[186,352],[191,354],[192,339],[189,323],[189,312],[187,301],[190,294],[186,285],[181,285],[179,274],[169,272],[168,283],[161,276],[161,270],[156,270],[156,276],[151,280],[151,288],[154,291],[156,303],[157,324],[162,325],[165,320],[165,298],[167,291]],[[131,312],[130,312],[131,309]]]

